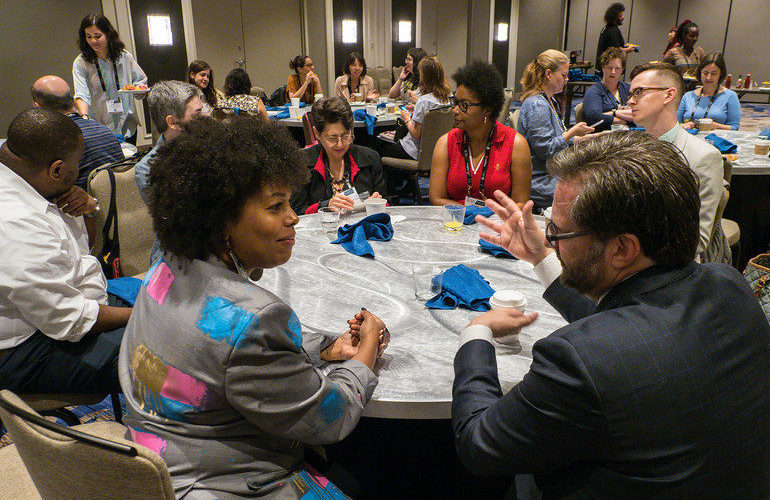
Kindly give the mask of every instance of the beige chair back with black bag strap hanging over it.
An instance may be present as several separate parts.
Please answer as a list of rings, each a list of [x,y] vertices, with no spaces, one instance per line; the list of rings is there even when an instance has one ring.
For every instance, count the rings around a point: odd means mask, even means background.
[[[96,216],[95,242],[91,253],[99,256],[102,249],[102,228],[112,199],[112,187],[106,168],[115,174],[115,205],[118,218],[118,241],[120,245],[120,268],[124,276],[136,276],[147,272],[150,267],[150,251],[155,241],[155,231],[147,205],[139,195],[134,180],[134,165],[127,170],[111,166],[100,167],[89,177],[88,191],[99,200],[102,207]]]

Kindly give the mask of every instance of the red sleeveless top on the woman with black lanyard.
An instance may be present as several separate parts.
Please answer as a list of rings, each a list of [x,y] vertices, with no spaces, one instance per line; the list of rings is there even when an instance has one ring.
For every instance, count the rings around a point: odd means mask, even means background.
[[[487,177],[484,180],[484,193],[479,192],[481,183],[481,171],[474,174],[471,171],[470,196],[483,200],[492,196],[499,189],[505,194],[511,193],[511,154],[516,131],[510,127],[498,123],[495,136],[492,139],[492,149],[489,151],[489,166]],[[465,204],[465,195],[468,194],[468,177],[465,173],[465,157],[462,150],[463,131],[453,128],[447,136],[447,154],[449,157],[449,171],[447,172],[447,193],[449,198],[457,203]],[[486,196],[484,196],[486,195]]]

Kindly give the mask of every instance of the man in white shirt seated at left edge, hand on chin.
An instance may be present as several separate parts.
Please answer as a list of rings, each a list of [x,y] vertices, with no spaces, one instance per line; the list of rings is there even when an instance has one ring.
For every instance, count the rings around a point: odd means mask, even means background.
[[[75,186],[83,134],[64,114],[16,116],[0,146],[0,388],[18,393],[120,390],[118,350],[131,314],[116,307]]]

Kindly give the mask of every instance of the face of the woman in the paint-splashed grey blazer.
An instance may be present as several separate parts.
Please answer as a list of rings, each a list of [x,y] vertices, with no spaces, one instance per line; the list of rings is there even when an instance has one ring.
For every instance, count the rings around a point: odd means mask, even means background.
[[[232,252],[247,271],[280,266],[291,258],[299,217],[290,197],[288,186],[263,186],[246,201],[240,217],[227,224]]]

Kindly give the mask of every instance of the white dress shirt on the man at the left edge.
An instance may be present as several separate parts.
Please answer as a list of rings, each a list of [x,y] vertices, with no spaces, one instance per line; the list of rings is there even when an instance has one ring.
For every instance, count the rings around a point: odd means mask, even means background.
[[[40,330],[77,342],[107,303],[107,280],[71,217],[0,163],[0,349]]]

